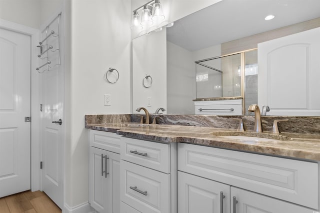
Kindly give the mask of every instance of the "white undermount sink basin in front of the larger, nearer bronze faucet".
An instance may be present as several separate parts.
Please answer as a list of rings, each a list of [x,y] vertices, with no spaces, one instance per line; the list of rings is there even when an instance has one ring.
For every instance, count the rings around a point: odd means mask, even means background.
[[[267,132],[237,132],[237,131],[221,131],[221,132],[212,132],[211,135],[234,139],[234,140],[242,140],[242,141],[288,141],[289,137],[284,135],[272,134]]]

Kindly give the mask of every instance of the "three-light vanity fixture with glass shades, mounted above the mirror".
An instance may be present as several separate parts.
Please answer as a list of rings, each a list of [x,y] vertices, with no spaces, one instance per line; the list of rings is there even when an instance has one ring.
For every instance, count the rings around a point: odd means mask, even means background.
[[[141,10],[140,21],[138,10]],[[142,29],[142,27],[149,27],[154,22],[160,23],[164,19],[165,16],[160,0],[151,0],[133,10],[131,29]]]

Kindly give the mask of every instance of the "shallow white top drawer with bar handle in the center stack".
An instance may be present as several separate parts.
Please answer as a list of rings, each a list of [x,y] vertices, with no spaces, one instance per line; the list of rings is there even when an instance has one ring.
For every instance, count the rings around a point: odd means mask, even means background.
[[[121,137],[121,159],[170,173],[170,145]]]

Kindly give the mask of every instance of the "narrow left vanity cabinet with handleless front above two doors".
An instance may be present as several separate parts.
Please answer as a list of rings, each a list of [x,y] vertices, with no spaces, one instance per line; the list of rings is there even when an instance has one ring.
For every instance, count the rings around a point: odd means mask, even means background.
[[[98,213],[120,212],[120,136],[89,130],[89,203]]]

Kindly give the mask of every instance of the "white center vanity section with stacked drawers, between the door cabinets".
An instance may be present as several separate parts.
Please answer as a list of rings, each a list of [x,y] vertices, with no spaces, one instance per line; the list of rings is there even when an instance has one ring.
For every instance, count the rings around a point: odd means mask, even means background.
[[[176,213],[176,144],[121,137],[120,150],[120,212]]]

